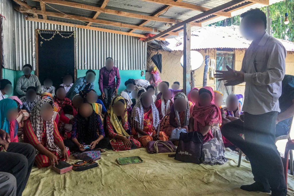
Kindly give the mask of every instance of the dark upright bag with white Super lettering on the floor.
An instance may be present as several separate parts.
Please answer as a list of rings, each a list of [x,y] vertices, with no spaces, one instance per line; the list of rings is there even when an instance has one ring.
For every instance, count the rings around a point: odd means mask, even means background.
[[[175,159],[186,163],[200,164],[203,135],[198,131],[180,133]]]

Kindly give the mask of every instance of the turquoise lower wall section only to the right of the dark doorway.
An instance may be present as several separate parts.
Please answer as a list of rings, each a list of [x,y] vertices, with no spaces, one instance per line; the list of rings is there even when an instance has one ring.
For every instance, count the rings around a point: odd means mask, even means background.
[[[86,71],[84,69],[78,69],[77,70],[77,77],[83,77],[86,75]],[[94,70],[96,73],[96,78],[95,78],[95,86],[94,90],[97,92],[98,95],[101,94],[98,86],[98,78],[99,78],[99,70]],[[124,85],[125,81],[127,81],[129,78],[133,79],[145,79],[145,71],[144,75],[141,76],[141,70],[119,70],[119,75],[121,76],[121,84],[119,85],[118,92],[120,93],[121,91],[126,89],[126,86]]]

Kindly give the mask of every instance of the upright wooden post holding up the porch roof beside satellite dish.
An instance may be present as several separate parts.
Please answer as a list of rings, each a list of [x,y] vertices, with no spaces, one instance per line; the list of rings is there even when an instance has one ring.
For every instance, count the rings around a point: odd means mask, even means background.
[[[191,91],[191,24],[184,24],[184,66],[183,90],[186,95]]]

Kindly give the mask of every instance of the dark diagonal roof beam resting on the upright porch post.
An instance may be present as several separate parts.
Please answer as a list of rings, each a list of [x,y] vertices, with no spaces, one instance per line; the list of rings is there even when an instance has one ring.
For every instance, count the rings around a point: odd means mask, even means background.
[[[212,15],[212,14],[218,12],[218,11],[221,11],[221,10],[224,10],[224,9],[230,8],[230,7],[232,7],[232,6],[238,5],[238,4],[240,4],[240,3],[243,3],[244,1],[245,1],[245,0],[232,0],[232,1],[229,1],[229,2],[227,2],[227,3],[225,3],[225,4],[222,4],[222,5],[220,5],[220,6],[217,6],[217,7],[215,7],[215,8],[212,8],[212,9],[210,9],[210,10],[208,10],[208,11],[205,11],[205,12],[203,12],[203,13],[201,13],[201,14],[198,14],[198,15],[196,15],[196,16],[193,16],[193,17],[191,17],[191,18],[189,18],[189,19],[187,19],[187,20],[184,20],[183,22],[180,22],[180,23],[178,23],[178,24],[176,24],[176,25],[174,25],[174,26],[172,26],[172,27],[166,29],[165,31],[163,31],[163,32],[161,32],[161,33],[158,33],[157,35],[155,35],[155,36],[153,36],[153,37],[150,37],[150,38],[146,39],[145,42],[147,42],[147,41],[151,41],[151,40],[153,40],[153,39],[155,39],[155,38],[158,38],[158,37],[161,37],[161,36],[163,36],[163,35],[165,35],[165,34],[171,32],[171,31],[173,31],[173,30],[175,30],[175,29],[180,28],[181,26],[183,26],[183,25],[186,24],[186,23],[190,23],[190,22],[196,21],[196,20],[198,20],[198,19],[205,18],[205,17],[210,16],[210,15]]]

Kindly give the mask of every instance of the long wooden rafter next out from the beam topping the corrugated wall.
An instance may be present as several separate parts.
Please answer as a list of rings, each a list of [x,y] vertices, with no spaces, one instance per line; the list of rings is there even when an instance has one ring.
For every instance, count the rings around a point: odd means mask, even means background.
[[[139,26],[131,25],[131,24],[124,24],[124,23],[113,22],[113,21],[93,19],[93,18],[87,18],[87,17],[76,16],[76,15],[71,15],[71,14],[61,14],[61,13],[56,13],[56,12],[41,11],[41,10],[26,9],[26,8],[19,8],[19,11],[33,13],[33,14],[41,14],[41,15],[46,15],[46,16],[53,16],[53,17],[58,17],[58,18],[73,19],[73,20],[78,20],[78,21],[93,22],[93,23],[110,25],[110,26],[118,26],[118,27],[123,27],[123,28],[128,28],[128,29],[138,29],[138,30],[142,30],[142,31],[157,32],[157,29],[154,29],[154,28],[139,27]],[[178,35],[178,33],[173,33],[173,34]]]

